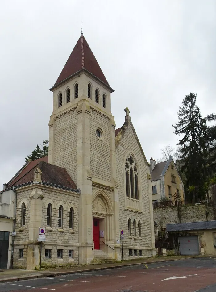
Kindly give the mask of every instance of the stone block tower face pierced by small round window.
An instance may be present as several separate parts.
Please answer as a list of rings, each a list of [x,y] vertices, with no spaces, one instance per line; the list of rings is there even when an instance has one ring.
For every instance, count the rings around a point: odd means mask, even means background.
[[[95,135],[97,127],[103,131],[103,140]],[[110,119],[93,108],[90,112],[90,169],[94,177],[111,181]]]

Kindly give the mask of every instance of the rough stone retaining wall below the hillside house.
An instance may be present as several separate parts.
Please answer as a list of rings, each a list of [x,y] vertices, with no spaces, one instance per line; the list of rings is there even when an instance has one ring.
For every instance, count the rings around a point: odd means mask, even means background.
[[[158,224],[158,229],[166,228],[166,224],[210,221],[214,220],[214,210],[212,205],[183,205],[177,207],[155,208],[153,209],[154,221]]]

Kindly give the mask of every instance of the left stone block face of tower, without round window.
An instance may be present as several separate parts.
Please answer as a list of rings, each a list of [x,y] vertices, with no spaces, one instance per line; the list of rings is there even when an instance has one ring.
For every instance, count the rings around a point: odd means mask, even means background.
[[[64,167],[77,184],[77,112],[75,109],[55,119],[53,164]]]

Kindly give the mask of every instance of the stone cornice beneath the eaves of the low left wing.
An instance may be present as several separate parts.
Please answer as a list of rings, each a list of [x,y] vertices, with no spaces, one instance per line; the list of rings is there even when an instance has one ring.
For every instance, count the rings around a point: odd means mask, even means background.
[[[41,189],[41,190],[48,190],[48,191],[56,192],[56,193],[60,193],[60,194],[65,194],[65,195],[69,195],[69,196],[73,196],[73,197],[79,197],[81,194],[81,193],[74,192],[72,190],[65,190],[65,189],[57,188],[55,186],[47,186],[47,185],[44,185],[43,183],[32,183],[32,184],[29,184],[27,186],[18,187],[16,189],[16,192],[20,193],[20,192],[32,190],[35,188]]]

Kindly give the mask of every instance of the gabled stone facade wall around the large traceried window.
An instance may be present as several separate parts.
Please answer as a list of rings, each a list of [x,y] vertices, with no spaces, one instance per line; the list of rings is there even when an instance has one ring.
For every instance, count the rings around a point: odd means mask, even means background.
[[[139,165],[140,173],[139,180],[141,180],[142,190],[139,190],[139,197],[142,199],[142,206],[140,211],[133,211],[125,209],[125,187],[124,187],[124,159],[128,152],[134,154],[137,165]],[[131,125],[127,128],[124,136],[116,148],[116,170],[117,180],[119,184],[119,224],[120,230],[124,231],[123,239],[123,252],[125,259],[130,259],[129,249],[143,250],[143,257],[152,256],[152,243],[151,243],[151,220],[149,210],[149,193],[148,193],[148,180],[147,180],[147,165],[144,161],[142,152],[140,151],[139,144],[136,141],[134,132]],[[152,202],[151,202],[152,203]],[[128,234],[128,219],[131,219],[131,234]],[[134,236],[133,220],[136,220],[137,236]],[[141,237],[138,236],[138,221],[141,221]],[[154,232],[154,230],[152,230]],[[146,248],[146,249],[144,249]]]

